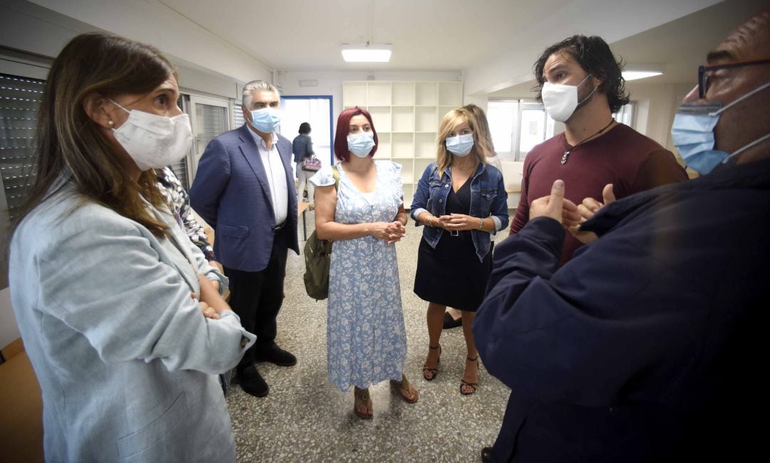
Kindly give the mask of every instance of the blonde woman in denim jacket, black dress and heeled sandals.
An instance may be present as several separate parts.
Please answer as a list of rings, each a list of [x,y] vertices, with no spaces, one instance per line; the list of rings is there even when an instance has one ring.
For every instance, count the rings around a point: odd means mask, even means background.
[[[462,395],[474,394],[478,385],[470,327],[492,269],[490,234],[508,225],[503,175],[485,162],[476,122],[466,108],[447,112],[438,130],[437,161],[423,172],[411,207],[415,225],[426,225],[414,277],[415,294],[428,301],[430,342],[423,378],[437,377],[444,311],[459,308],[467,346]]]

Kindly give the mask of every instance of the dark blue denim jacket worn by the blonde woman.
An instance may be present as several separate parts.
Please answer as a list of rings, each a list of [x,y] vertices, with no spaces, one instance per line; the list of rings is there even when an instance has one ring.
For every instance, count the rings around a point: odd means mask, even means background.
[[[447,210],[447,196],[452,188],[451,167],[444,171],[444,175],[438,176],[438,166],[435,162],[425,168],[420,183],[417,184],[417,192],[412,200],[411,216],[415,225],[422,225],[417,220],[420,214],[427,211],[433,215],[445,215]],[[503,184],[503,174],[491,165],[479,164],[474,178],[470,180],[470,216],[478,218],[491,217],[494,222],[494,231],[497,233],[508,226],[508,195]],[[425,227],[423,238],[432,247],[436,248],[444,228]],[[479,230],[471,230],[476,255],[481,261],[490,249],[490,233]]]

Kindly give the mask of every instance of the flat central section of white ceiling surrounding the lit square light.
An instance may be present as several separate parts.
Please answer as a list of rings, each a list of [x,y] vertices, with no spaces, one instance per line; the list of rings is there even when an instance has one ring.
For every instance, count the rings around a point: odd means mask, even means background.
[[[460,71],[572,0],[160,0],[270,68]],[[223,14],[225,13],[225,14]],[[390,43],[383,64],[346,63],[342,43]]]

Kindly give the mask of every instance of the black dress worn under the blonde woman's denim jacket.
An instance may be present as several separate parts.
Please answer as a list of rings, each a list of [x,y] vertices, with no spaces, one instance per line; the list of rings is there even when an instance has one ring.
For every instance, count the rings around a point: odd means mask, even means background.
[[[447,196],[447,215],[470,212],[470,179],[457,192]],[[492,271],[492,248],[480,261],[470,231],[453,236],[441,234],[436,248],[425,238],[417,252],[417,274],[414,293],[421,299],[465,311],[476,311],[484,299],[487,280]]]

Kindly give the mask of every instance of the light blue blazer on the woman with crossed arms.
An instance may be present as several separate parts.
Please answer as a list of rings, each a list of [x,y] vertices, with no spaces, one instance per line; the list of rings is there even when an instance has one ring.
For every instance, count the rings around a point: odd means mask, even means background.
[[[11,300],[42,389],[46,461],[235,461],[216,374],[255,337],[232,311],[203,317],[190,293],[213,269],[152,210],[172,239],[66,183],[12,237]]]

